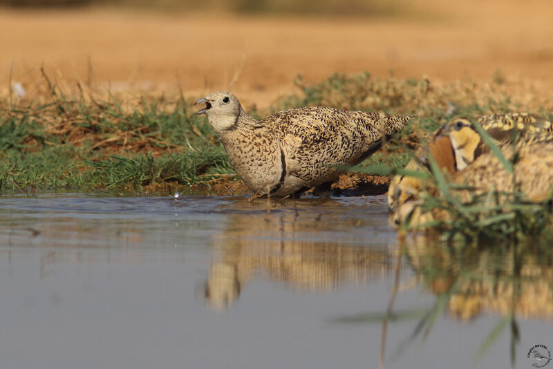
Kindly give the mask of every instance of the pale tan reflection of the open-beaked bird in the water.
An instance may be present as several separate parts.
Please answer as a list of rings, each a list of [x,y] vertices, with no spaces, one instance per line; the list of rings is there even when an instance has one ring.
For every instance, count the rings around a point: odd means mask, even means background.
[[[368,213],[366,203],[235,198],[218,211],[230,221],[214,237],[205,283],[205,299],[215,308],[236,301],[254,278],[315,292],[371,281],[390,270],[388,244],[396,243],[395,236],[386,216]]]

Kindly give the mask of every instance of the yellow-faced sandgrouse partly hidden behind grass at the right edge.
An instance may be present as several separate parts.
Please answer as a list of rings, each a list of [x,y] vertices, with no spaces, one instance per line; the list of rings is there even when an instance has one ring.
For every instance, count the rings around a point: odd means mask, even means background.
[[[494,140],[502,155],[513,165],[509,173],[478,133],[474,121]],[[460,200],[471,200],[474,194],[521,191],[527,200],[543,202],[550,198],[553,186],[553,131],[545,117],[527,113],[487,115],[471,121],[457,118],[438,130],[427,149],[427,155],[439,158],[438,165],[448,173],[453,183],[463,183],[469,189],[456,192]],[[415,159],[427,170],[427,158]],[[446,164],[449,162],[449,164]],[[447,211],[422,211],[420,192],[426,187],[418,178],[396,176],[388,190],[388,204],[395,210],[394,222],[399,225],[409,217],[410,224],[421,224],[449,216]],[[432,191],[432,189],[430,189]]]

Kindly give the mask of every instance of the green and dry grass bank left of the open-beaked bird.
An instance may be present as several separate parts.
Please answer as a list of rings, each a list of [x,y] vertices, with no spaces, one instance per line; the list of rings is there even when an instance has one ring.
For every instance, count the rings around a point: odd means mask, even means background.
[[[46,75],[45,75],[46,77]],[[72,97],[45,79],[42,100],[16,102],[0,115],[0,190],[116,189],[191,185],[232,169],[211,126],[191,102],[120,103]]]

